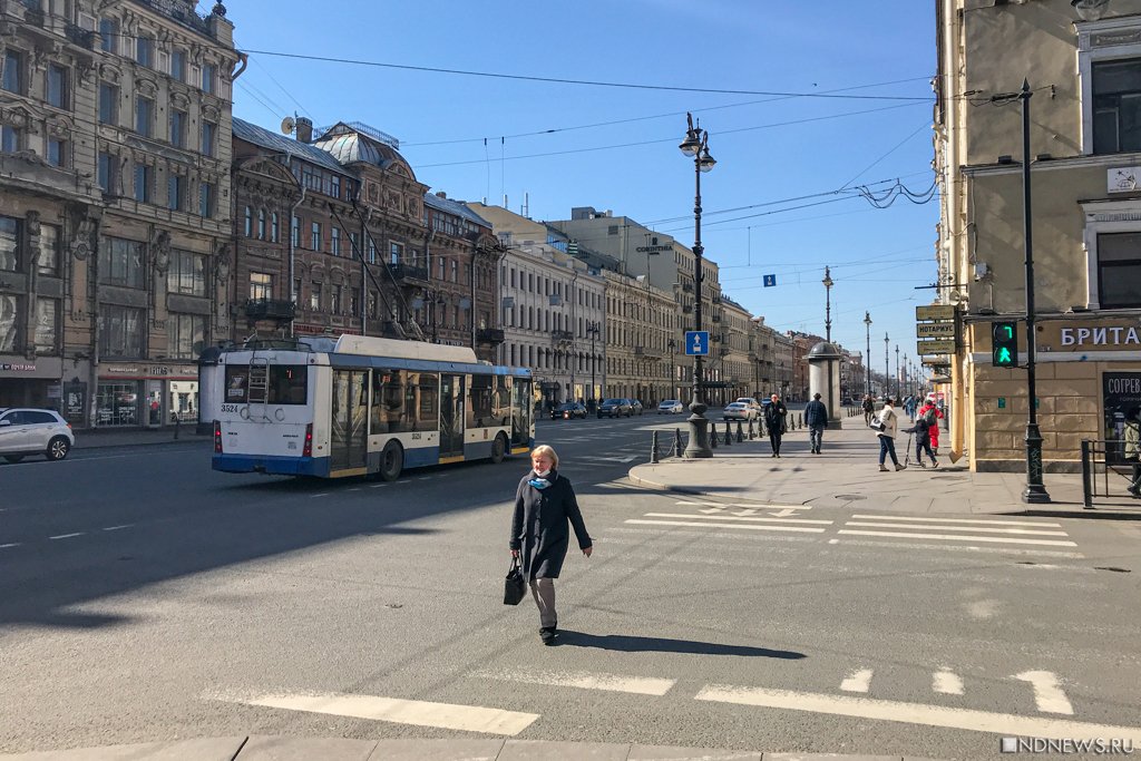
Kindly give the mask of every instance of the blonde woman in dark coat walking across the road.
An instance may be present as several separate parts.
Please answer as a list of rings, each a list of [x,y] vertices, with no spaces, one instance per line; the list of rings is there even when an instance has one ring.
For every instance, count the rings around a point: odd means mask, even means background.
[[[588,558],[593,541],[586,533],[574,487],[558,473],[559,456],[543,445],[531,453],[532,470],[519,481],[511,518],[511,557],[523,558],[523,574],[531,584],[531,594],[539,606],[539,637],[543,645],[555,645],[559,617],[555,612],[555,580],[570,543],[569,523],[578,540],[578,549]]]

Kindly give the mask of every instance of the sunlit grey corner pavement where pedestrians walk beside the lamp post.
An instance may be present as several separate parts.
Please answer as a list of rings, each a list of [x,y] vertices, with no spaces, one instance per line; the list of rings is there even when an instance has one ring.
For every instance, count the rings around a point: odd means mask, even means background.
[[[721,440],[725,423],[720,423]],[[1141,501],[1131,499],[1122,483],[1119,497],[1099,497],[1095,509],[1082,502],[1082,476],[1046,473],[1047,504],[1022,502],[1026,473],[971,472],[966,459],[952,464],[948,447],[940,448],[939,467],[911,464],[903,471],[881,472],[880,444],[864,419],[843,418],[840,430],[824,431],[823,454],[809,451],[808,429],[784,436],[780,459],[770,456],[768,437],[721,444],[707,460],[664,459],[656,464],[631,468],[630,480],[649,488],[763,502],[777,505],[822,508],[874,504],[876,510],[919,513],[1077,512],[1083,517],[1130,515],[1141,517]],[[683,420],[671,424],[681,428]],[[734,426],[736,434],[736,426]],[[949,437],[948,437],[949,438]],[[946,443],[945,443],[946,444]],[[896,439],[896,454],[905,461],[907,435]],[[890,460],[889,460],[890,468]]]

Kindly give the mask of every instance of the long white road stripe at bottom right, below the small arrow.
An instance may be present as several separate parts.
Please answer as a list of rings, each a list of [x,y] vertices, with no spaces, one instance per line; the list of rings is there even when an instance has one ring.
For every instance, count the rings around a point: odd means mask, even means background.
[[[1063,719],[1019,717],[1012,713],[990,713],[968,709],[950,709],[921,703],[880,701],[845,695],[795,693],[793,690],[761,687],[731,687],[714,685],[702,688],[695,699],[717,703],[736,703],[766,709],[807,711],[857,719],[899,721],[928,727],[969,729],[1001,736],[1049,737],[1052,739],[1097,739],[1119,737],[1141,743],[1141,727],[1112,727]]]

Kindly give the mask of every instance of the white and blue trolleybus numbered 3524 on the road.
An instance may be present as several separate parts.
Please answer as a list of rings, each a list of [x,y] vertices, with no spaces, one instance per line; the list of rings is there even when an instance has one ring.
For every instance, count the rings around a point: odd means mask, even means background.
[[[535,439],[531,371],[469,348],[361,335],[251,341],[201,371],[213,469],[339,478],[469,460]],[[209,406],[208,406],[209,405]]]

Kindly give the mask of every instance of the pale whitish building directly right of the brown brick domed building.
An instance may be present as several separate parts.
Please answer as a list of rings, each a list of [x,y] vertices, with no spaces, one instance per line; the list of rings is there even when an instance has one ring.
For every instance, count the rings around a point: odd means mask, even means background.
[[[486,219],[505,256],[500,261],[501,364],[529,367],[535,403],[591,403],[607,381],[606,283],[566,251],[566,238],[503,207],[468,203]]]

